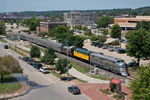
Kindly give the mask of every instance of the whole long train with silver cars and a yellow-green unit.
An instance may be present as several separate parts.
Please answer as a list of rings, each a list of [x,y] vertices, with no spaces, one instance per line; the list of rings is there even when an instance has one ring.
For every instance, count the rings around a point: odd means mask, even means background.
[[[58,53],[77,58],[78,60],[87,62],[95,67],[103,68],[122,76],[128,76],[127,64],[121,58],[107,56],[84,48],[65,46],[58,42],[48,41],[28,34],[18,34],[18,37],[21,40],[28,41],[45,48],[51,47]]]

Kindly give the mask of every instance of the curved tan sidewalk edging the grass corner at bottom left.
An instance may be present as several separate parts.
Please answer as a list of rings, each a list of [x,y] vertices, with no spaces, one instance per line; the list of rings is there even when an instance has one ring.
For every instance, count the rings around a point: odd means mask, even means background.
[[[20,83],[22,83],[22,85],[23,85],[23,83],[27,84],[26,82],[20,82]],[[21,90],[22,88],[20,88],[19,90]],[[23,96],[23,95],[27,94],[30,91],[30,86],[27,84],[27,88],[24,91],[19,92],[19,90],[17,90],[15,93],[12,93],[12,94],[2,94],[2,95],[0,95],[0,100],[7,100],[7,99],[14,98],[14,97]]]

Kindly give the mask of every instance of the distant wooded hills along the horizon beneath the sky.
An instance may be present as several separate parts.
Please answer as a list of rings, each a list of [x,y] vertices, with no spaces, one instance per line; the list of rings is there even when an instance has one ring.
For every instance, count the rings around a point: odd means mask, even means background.
[[[148,16],[150,15],[150,6],[147,7],[141,7],[137,9],[131,9],[131,8],[124,8],[124,9],[103,9],[103,10],[80,10],[82,12],[97,12],[99,16],[101,15],[108,15],[108,16],[120,16],[123,14],[128,14],[132,16],[137,16],[137,15],[145,15]],[[25,12],[19,12],[19,15],[21,16],[59,16],[62,17],[63,13],[65,12],[70,12],[70,10],[65,10],[65,11],[25,11]]]

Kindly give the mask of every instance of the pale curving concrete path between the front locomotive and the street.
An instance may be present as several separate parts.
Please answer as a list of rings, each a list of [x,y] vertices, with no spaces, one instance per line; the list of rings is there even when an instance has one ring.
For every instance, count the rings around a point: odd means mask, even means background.
[[[76,78],[79,78],[81,80],[85,80],[88,83],[109,83],[109,81],[105,81],[105,80],[100,80],[100,79],[95,79],[95,78],[89,77],[89,76],[87,76],[87,75],[77,71],[73,67],[69,70],[69,74],[71,74],[72,76],[74,76]]]

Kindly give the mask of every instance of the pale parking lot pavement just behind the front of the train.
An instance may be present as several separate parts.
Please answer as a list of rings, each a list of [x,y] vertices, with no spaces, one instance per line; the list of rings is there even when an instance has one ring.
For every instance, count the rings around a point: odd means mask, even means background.
[[[122,43],[121,48],[125,49],[125,47],[126,47],[126,44]],[[95,47],[95,46],[91,46],[90,42],[84,43],[83,48],[87,48],[90,51],[102,52],[102,53],[104,53],[105,55],[108,55],[108,56],[122,58],[123,60],[125,60],[126,63],[129,63],[132,60],[136,60],[134,57],[127,56],[127,54],[118,54],[115,51],[110,52],[110,51],[108,51],[108,49],[103,49],[103,48],[98,48],[98,47]],[[147,65],[148,63],[150,63],[150,61],[149,60],[141,60],[140,63],[143,64],[143,65]]]

